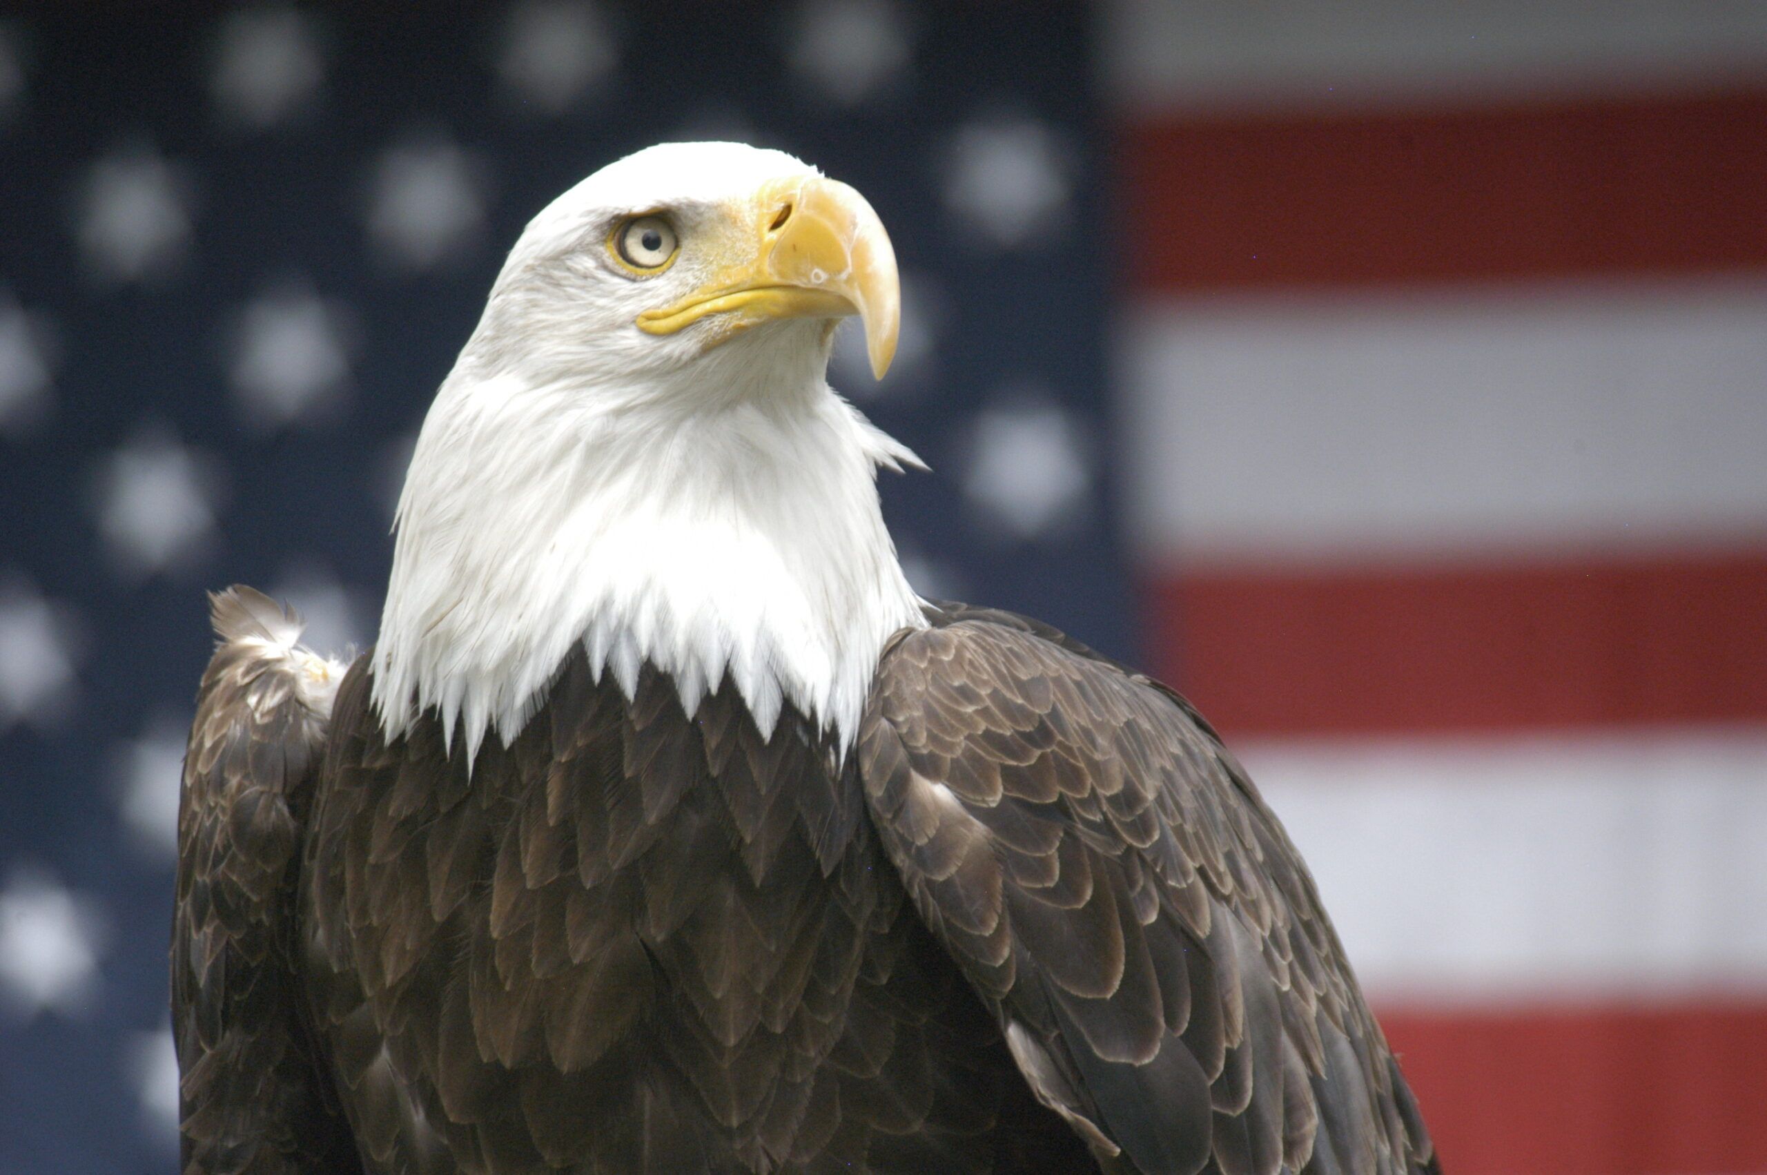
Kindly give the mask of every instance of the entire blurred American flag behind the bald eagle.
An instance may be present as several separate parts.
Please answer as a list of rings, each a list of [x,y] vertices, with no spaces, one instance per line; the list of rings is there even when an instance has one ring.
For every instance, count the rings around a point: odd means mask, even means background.
[[[175,1164],[203,590],[373,641],[502,251],[664,138],[905,272],[922,592],[1209,714],[1454,1175],[1767,1171],[1767,5],[0,7],[0,1171]]]

